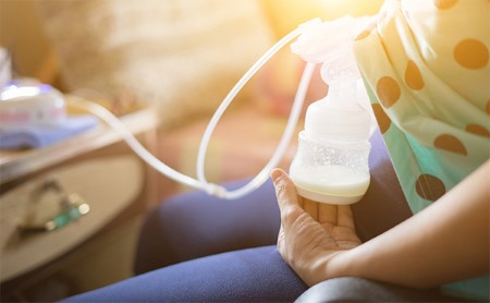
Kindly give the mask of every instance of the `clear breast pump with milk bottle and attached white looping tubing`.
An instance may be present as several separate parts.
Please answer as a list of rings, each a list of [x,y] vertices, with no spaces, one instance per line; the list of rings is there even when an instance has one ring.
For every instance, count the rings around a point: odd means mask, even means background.
[[[197,179],[161,162],[102,106],[82,98],[73,98],[68,102],[72,107],[90,111],[115,129],[128,146],[160,173],[210,195],[235,199],[262,185],[270,171],[278,166],[295,132],[315,64],[321,63],[321,76],[329,84],[329,93],[326,98],[311,104],[307,109],[305,129],[299,133],[299,145],[291,163],[290,175],[298,194],[306,198],[330,204],[352,204],[364,196],[370,179],[370,114],[356,101],[360,76],[352,52],[352,34],[358,22],[351,16],[332,22],[315,19],[299,25],[272,46],[237,82],[212,116],[199,145]],[[249,78],[297,36],[297,40],[291,45],[292,51],[307,61],[307,64],[284,133],[271,159],[254,179],[237,190],[228,191],[223,186],[209,183],[205,174],[205,158],[219,119]]]

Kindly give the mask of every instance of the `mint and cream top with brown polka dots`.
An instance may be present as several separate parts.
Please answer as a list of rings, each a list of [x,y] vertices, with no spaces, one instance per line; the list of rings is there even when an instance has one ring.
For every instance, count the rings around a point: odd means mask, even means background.
[[[355,37],[372,110],[414,213],[489,159],[489,0],[388,0]],[[444,289],[488,300],[489,279]]]

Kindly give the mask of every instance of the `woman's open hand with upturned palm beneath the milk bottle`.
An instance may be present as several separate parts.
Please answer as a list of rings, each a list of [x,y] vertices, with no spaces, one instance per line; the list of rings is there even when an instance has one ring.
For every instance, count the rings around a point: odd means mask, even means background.
[[[274,169],[271,178],[281,210],[278,249],[284,260],[308,286],[343,276],[339,255],[360,244],[350,206],[298,196],[280,169]]]

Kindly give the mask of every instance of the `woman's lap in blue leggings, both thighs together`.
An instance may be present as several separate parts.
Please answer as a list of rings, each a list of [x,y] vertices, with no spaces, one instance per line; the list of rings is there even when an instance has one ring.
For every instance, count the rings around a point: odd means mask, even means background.
[[[371,144],[371,184],[353,206],[364,241],[411,215],[379,133]],[[135,260],[135,272],[143,275],[73,299],[294,301],[307,287],[274,246],[265,246],[275,244],[279,227],[271,182],[237,201],[201,192],[177,195],[151,211],[143,226]]]

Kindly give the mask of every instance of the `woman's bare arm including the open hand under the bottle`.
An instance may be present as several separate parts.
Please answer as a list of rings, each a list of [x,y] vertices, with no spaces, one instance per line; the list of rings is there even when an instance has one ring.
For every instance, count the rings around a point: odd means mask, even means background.
[[[354,276],[431,288],[489,272],[490,160],[425,210],[364,244],[356,243],[348,207],[319,204],[310,216],[303,210],[309,202],[297,197],[287,175],[274,170],[271,177],[282,216],[280,253],[310,286]]]

